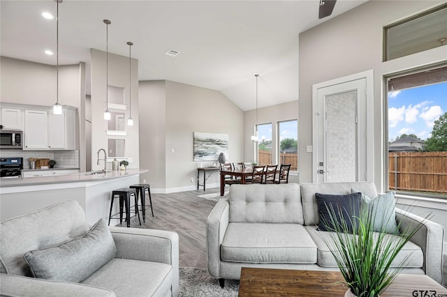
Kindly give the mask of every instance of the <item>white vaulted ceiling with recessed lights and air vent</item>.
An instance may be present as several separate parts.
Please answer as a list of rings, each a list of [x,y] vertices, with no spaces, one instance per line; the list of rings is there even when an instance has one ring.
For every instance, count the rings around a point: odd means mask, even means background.
[[[59,64],[87,63],[90,48],[138,59],[138,79],[168,79],[221,91],[242,110],[298,100],[298,35],[367,0],[339,0],[318,20],[318,0],[75,1],[59,4]],[[50,65],[56,56],[55,1],[5,1],[1,55]],[[175,57],[167,56],[176,50]]]

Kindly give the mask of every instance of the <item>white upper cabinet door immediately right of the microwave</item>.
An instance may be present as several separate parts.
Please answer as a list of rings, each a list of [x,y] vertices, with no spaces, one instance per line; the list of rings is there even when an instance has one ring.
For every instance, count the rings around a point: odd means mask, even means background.
[[[25,109],[24,150],[48,149],[48,113]]]

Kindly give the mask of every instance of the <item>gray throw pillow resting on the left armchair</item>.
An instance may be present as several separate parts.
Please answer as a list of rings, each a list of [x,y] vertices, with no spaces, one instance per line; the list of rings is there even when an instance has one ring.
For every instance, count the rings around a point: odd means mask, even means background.
[[[103,219],[80,238],[24,254],[31,274],[45,280],[82,282],[117,254],[112,234]]]

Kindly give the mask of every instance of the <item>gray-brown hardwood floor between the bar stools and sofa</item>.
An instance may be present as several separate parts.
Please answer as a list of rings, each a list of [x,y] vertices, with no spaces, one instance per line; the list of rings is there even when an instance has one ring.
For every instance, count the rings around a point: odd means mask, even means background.
[[[179,266],[207,267],[206,223],[216,202],[197,197],[217,193],[219,188],[152,194],[154,218],[150,208],[146,211],[146,222],[142,226],[138,218],[131,218],[131,227],[175,231],[179,234]],[[147,198],[147,201],[149,199]],[[140,214],[141,215],[141,214]],[[120,226],[117,224],[117,226]],[[123,222],[121,225],[125,227]]]

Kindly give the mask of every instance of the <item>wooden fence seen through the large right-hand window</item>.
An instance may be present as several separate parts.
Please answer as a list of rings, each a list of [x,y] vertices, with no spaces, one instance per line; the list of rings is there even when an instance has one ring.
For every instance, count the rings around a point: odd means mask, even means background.
[[[388,153],[390,190],[447,194],[447,152]]]

